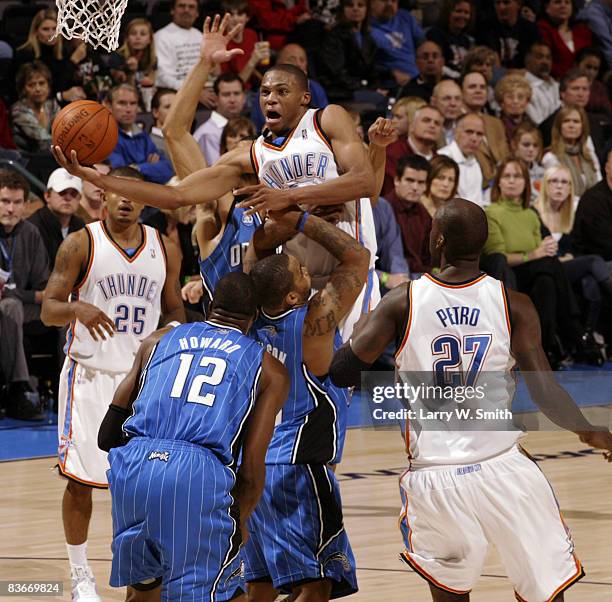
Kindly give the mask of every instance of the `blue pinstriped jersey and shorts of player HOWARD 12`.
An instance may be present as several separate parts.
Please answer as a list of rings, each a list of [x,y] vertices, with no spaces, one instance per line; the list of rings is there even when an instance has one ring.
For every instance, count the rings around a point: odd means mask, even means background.
[[[132,438],[109,454],[111,585],[162,577],[172,602],[223,602],[244,589],[230,492],[263,353],[210,321],[155,346],[123,426]]]

